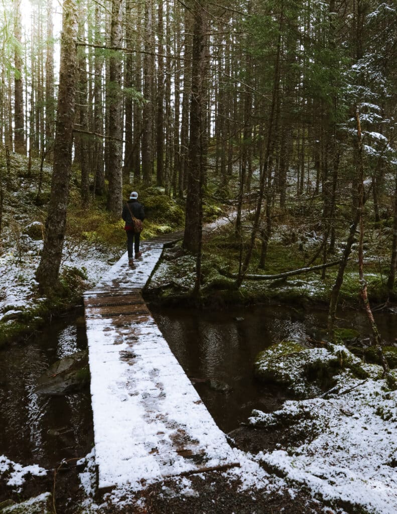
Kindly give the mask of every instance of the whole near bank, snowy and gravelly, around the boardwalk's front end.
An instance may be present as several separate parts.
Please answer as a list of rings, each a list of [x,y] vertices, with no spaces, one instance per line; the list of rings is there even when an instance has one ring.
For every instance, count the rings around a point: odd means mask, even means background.
[[[340,373],[342,390],[327,398],[253,412],[249,425],[230,434],[240,467],[224,471],[125,484],[98,495],[94,451],[56,472],[0,457],[0,512],[3,500],[24,505],[52,493],[47,510],[25,506],[21,513],[394,514],[397,396],[378,366],[364,368],[371,375],[366,380],[349,369]]]

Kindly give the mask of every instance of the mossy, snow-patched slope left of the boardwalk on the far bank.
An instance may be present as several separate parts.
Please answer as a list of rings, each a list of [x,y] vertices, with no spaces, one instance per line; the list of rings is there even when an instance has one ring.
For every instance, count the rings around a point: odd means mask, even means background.
[[[82,292],[125,251],[124,222],[106,210],[106,194],[94,195],[82,206],[80,171],[73,167],[67,212],[67,225],[60,280],[50,297],[43,297],[34,280],[40,261],[45,221],[50,197],[51,166],[44,164],[40,183],[40,161],[18,154],[6,160],[0,149],[3,168],[4,206],[0,244],[0,347],[10,339],[26,337],[49,316],[57,315],[81,302]],[[170,198],[164,188],[134,182],[123,186],[124,200],[130,192],[139,193],[145,206],[145,229],[141,240],[181,230],[185,222],[184,199]],[[208,191],[205,219],[211,221],[223,212],[222,202]]]

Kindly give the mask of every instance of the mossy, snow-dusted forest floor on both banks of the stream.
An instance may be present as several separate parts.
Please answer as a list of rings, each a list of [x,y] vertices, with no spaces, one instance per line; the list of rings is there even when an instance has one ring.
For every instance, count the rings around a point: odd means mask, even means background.
[[[125,251],[122,223],[103,214],[100,203],[94,204],[89,211],[81,209],[75,179],[61,268],[64,288],[57,298],[42,298],[34,271],[42,248],[50,170],[44,170],[46,189],[37,199],[34,186],[38,163],[33,166],[33,178],[20,171],[25,164],[23,159],[12,156],[15,173],[6,194],[0,255],[0,345],[10,337],[30,334],[54,311],[79,303],[80,292],[88,284],[95,284]],[[128,192],[125,190],[124,194]],[[169,200],[156,188],[142,194],[142,198],[149,214],[146,237],[181,228],[183,211],[180,205],[170,206]],[[208,206],[207,219],[221,212],[220,205]],[[313,221],[315,218],[312,216],[302,223],[293,212],[289,218],[284,217],[274,226],[265,270],[258,268],[258,244],[249,272],[274,274],[302,267],[321,242],[318,223]],[[248,215],[247,225],[249,219]],[[389,256],[386,249],[391,227],[386,219],[377,225],[369,224],[367,229],[366,277],[370,299],[383,302],[387,299],[385,277]],[[335,259],[343,249],[345,233],[341,231],[338,236]],[[327,302],[335,276],[332,269],[327,271],[325,278],[319,274],[304,274],[281,281],[246,281],[240,290],[236,290],[227,274],[237,271],[240,249],[228,227],[205,242],[202,306],[227,308],[230,303],[283,301],[304,310],[310,308],[312,302]],[[359,285],[355,261],[353,253],[341,302],[356,308]],[[151,300],[175,304],[190,300],[193,284],[194,258],[176,246],[165,253],[165,260],[152,277],[147,293]],[[351,377],[344,384],[349,380]],[[359,383],[357,378],[354,380]],[[320,433],[327,435],[322,439],[311,437],[308,423],[312,426],[314,421],[308,421],[304,416],[293,424],[295,431],[291,425],[277,425],[266,418],[266,428],[256,427],[254,423],[233,434],[241,468],[167,479],[144,486],[139,484],[139,487],[116,489],[101,498],[95,496],[93,487],[93,455],[83,458],[78,466],[75,463],[61,465],[56,480],[53,470],[45,472],[34,465],[23,467],[8,461],[5,456],[0,457],[0,512],[3,500],[21,502],[44,492],[55,492],[52,497],[55,500],[49,502],[47,511],[55,512],[54,503],[58,514],[119,511],[138,514],[394,514],[397,502],[390,487],[395,480],[392,476],[397,463],[392,435],[392,424],[397,421],[395,392],[388,390],[383,379],[371,380],[341,399],[286,402],[280,419],[295,410],[316,411],[315,424],[317,428],[321,425]],[[381,410],[378,409],[380,403]],[[331,414],[336,427],[330,426]],[[303,422],[306,425],[302,425]],[[343,430],[338,430],[337,426]],[[331,462],[328,453],[338,455],[338,460]],[[376,459],[376,455],[379,458]],[[352,459],[356,465],[354,469],[349,467]],[[366,484],[369,484],[367,489]],[[27,508],[23,512],[28,512]]]

